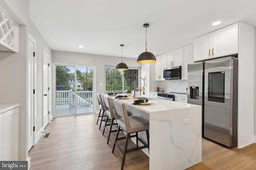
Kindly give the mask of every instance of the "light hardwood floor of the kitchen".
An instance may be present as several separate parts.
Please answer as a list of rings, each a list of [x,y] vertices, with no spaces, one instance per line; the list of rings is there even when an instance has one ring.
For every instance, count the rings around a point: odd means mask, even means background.
[[[98,115],[60,117],[45,129],[50,138],[40,139],[29,151],[30,170],[118,170],[122,154],[112,146],[116,133],[102,136]],[[99,124],[99,123],[98,123]],[[134,147],[132,142],[130,147]],[[126,155],[125,170],[148,170],[149,158],[141,150]],[[227,149],[202,139],[202,162],[187,170],[256,170],[256,143],[242,149]]]

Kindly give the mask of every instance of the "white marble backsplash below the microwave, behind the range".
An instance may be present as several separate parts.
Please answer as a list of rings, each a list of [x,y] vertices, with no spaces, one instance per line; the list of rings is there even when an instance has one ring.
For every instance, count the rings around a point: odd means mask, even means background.
[[[186,93],[187,87],[188,80],[165,80],[160,83],[164,92]]]

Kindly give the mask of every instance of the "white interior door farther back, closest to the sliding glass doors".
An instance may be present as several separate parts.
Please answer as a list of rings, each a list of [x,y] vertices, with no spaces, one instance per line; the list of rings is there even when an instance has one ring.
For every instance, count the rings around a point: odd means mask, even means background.
[[[49,123],[49,55],[43,50],[43,126]]]

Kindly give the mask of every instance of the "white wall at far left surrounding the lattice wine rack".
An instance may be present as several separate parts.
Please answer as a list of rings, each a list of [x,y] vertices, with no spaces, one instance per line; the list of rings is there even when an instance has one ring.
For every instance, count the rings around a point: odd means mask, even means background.
[[[28,0],[0,0],[0,5],[22,24],[19,29],[19,52],[0,52],[0,104],[20,104],[19,160],[27,160]]]

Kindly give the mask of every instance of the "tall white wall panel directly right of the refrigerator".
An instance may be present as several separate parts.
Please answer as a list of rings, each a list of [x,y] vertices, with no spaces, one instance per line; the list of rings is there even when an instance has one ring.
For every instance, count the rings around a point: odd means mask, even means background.
[[[254,131],[254,28],[239,23],[238,148],[253,143]]]

